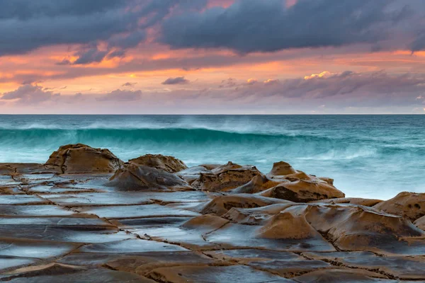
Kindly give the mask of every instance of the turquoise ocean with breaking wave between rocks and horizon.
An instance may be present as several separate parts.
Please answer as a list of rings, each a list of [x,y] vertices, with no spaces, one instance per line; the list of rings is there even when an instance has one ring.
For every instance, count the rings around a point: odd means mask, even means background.
[[[335,179],[348,197],[425,192],[422,115],[0,115],[0,162],[44,163],[59,146],[200,163],[273,162]]]

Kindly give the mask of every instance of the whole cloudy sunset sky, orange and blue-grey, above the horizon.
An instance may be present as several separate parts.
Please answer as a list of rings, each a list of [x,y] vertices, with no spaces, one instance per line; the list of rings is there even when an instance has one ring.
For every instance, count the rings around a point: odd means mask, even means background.
[[[0,0],[1,114],[425,114],[424,0]]]

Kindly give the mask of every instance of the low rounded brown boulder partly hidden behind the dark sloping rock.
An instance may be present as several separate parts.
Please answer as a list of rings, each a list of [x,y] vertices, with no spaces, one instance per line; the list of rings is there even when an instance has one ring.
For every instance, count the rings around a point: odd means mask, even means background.
[[[138,158],[130,159],[130,163],[144,165],[152,168],[162,169],[169,173],[176,173],[188,168],[183,161],[173,156],[164,156],[161,154],[146,154]]]

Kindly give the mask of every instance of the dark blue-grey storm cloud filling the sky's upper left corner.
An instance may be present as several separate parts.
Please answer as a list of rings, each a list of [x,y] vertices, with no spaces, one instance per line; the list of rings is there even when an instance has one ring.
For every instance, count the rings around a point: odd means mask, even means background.
[[[205,3],[204,0],[0,0],[0,56],[23,54],[50,45],[96,45],[99,40],[107,42],[106,52],[123,54],[144,41],[145,28],[161,21],[171,9],[198,8]],[[77,64],[97,62],[105,51],[87,52]],[[61,64],[69,62],[65,59]]]

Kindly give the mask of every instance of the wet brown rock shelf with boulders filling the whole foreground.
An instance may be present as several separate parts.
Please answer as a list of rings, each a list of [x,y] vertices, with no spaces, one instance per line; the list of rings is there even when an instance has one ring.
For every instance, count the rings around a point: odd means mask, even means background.
[[[0,281],[425,281],[421,194],[345,198],[284,162],[181,170],[82,145],[50,159],[0,164]]]

